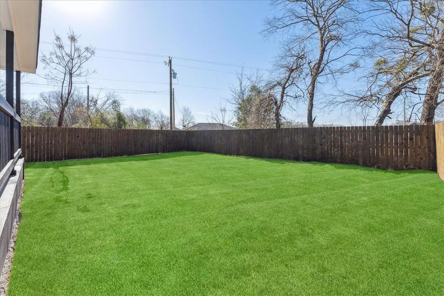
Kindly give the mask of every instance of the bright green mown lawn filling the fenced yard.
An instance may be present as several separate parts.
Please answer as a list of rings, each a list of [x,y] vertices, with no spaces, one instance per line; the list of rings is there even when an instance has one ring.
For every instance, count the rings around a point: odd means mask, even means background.
[[[444,294],[444,183],[198,152],[29,163],[15,295]]]

